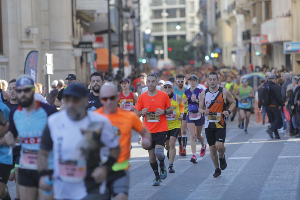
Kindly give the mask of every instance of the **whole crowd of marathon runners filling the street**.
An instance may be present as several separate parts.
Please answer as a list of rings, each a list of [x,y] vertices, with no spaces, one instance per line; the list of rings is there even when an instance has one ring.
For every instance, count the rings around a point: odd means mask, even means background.
[[[141,73],[115,84],[95,72],[87,89],[69,74],[65,86],[56,83],[51,103],[27,75],[9,81],[7,91],[1,87],[0,199],[10,199],[8,180],[15,180],[22,200],[127,199],[132,133],[148,151],[152,185],[159,186],[176,172],[177,140],[179,156],[190,156],[191,163],[205,155],[204,126],[212,177],[220,177],[227,166],[226,120],[238,112],[238,127],[248,133],[254,89],[239,74],[225,78],[209,67],[159,76]]]

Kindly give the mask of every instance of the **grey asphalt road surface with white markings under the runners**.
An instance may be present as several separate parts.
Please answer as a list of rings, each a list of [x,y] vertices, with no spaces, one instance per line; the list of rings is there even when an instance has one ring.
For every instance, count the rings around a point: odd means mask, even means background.
[[[254,115],[248,134],[238,129],[237,118],[227,123],[228,166],[220,178],[212,178],[214,165],[209,148],[200,158],[201,145],[197,143],[198,163],[193,164],[189,142],[187,157],[178,156],[177,142],[176,173],[168,174],[159,187],[152,186],[155,175],[148,152],[137,144],[138,136],[133,135],[129,199],[300,199],[300,139],[283,138],[283,133],[279,140],[270,139],[265,130],[266,126],[254,123]],[[169,165],[167,156],[165,163]],[[15,198],[14,182],[9,182],[8,187]]]

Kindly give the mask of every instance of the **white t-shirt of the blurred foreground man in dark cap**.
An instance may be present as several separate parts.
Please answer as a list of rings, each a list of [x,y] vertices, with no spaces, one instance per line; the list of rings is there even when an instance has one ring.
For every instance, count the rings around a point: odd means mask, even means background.
[[[81,129],[86,129],[91,122],[104,122],[101,133],[101,142],[108,148],[116,148],[119,141],[116,138],[113,127],[107,117],[88,111],[87,116],[79,121],[71,120],[67,111],[63,110],[50,115],[48,127],[53,141],[53,193],[54,199],[79,200],[87,196],[84,180],[70,183],[65,182],[59,175],[59,159],[75,160],[79,155],[77,145],[83,139]]]

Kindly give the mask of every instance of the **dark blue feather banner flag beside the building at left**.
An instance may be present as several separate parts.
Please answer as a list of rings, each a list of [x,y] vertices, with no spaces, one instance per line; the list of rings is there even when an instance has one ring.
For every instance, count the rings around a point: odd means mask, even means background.
[[[26,57],[24,74],[28,74],[32,79],[37,82],[38,76],[38,52],[31,51]]]

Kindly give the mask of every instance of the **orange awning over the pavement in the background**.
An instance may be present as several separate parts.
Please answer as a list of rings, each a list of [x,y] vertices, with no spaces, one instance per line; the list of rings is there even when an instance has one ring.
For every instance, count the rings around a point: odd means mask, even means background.
[[[97,53],[97,70],[98,71],[108,71],[108,49],[101,48],[95,49]],[[128,63],[124,62],[124,66]],[[119,67],[119,57],[112,53],[112,67]]]

